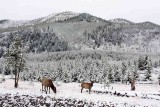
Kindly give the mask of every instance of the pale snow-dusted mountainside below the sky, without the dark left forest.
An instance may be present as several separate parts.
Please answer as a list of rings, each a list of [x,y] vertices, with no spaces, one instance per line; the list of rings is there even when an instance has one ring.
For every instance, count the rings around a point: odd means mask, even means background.
[[[10,32],[39,29],[53,32],[69,50],[160,52],[160,26],[126,19],[105,20],[87,13],[62,12],[30,21],[0,21],[0,37]],[[29,31],[29,30],[28,30]],[[8,33],[6,33],[8,32]],[[2,46],[2,45],[1,45]]]

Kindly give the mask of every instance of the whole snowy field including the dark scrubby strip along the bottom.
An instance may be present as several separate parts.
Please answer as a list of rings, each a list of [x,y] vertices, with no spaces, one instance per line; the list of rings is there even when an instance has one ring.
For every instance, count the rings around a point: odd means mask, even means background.
[[[81,93],[80,83],[56,81],[54,85],[57,93],[45,94],[40,82],[19,81],[15,89],[14,80],[6,79],[0,83],[0,106],[160,107],[158,84],[136,84],[136,91],[130,91],[130,85],[110,84],[104,89],[103,84],[95,83],[91,94],[85,89]]]

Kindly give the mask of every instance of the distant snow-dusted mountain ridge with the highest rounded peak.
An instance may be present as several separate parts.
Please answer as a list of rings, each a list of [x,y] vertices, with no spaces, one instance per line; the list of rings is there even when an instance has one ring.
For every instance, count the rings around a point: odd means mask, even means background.
[[[20,27],[20,26],[32,26],[42,23],[73,23],[73,22],[108,22],[104,19],[92,16],[87,13],[74,13],[70,11],[54,13],[46,17],[30,20],[30,21],[12,21],[12,20],[1,20],[0,28],[9,28],[9,27]]]

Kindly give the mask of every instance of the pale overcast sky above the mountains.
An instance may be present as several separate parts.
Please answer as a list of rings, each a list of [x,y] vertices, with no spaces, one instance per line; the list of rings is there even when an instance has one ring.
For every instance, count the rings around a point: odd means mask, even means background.
[[[160,0],[0,0],[0,19],[30,20],[64,11],[160,24]]]

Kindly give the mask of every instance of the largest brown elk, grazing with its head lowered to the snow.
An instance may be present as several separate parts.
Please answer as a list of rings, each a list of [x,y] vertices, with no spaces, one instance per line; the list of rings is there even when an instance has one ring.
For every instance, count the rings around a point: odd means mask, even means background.
[[[57,92],[56,87],[53,85],[53,82],[51,79],[47,79],[46,77],[43,77],[42,79],[39,77],[38,80],[42,83],[42,91],[44,87],[44,91],[47,92],[49,91],[50,93],[50,88],[53,90],[54,93]]]

